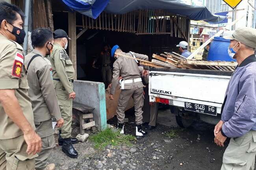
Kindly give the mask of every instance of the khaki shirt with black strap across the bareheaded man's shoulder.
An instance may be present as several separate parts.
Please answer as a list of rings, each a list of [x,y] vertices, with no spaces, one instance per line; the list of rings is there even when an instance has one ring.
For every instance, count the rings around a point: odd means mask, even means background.
[[[51,118],[59,120],[61,119],[61,113],[47,59],[34,49],[25,56],[24,63],[27,66],[31,58],[36,54],[41,56],[34,58],[30,63],[27,76],[30,87],[28,94],[32,100],[34,121],[35,124],[38,124]]]

